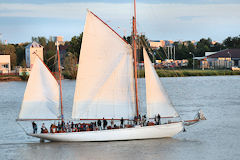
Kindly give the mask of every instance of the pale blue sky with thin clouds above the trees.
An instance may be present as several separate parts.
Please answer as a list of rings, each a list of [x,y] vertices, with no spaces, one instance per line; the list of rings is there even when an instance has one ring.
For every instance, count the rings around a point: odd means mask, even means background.
[[[136,0],[137,30],[150,40],[222,42],[240,35],[240,0]],[[121,36],[131,34],[133,0],[0,0],[0,40],[32,37],[71,40],[84,28],[87,9]]]

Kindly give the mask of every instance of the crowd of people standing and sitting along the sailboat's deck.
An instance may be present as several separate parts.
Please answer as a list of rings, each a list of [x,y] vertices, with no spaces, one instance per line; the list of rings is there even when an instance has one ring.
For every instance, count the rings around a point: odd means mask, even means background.
[[[110,121],[110,125],[108,125]],[[55,123],[51,124],[50,126],[50,133],[65,133],[65,132],[82,132],[82,131],[97,131],[97,130],[106,130],[106,129],[120,129],[120,128],[131,128],[135,125],[140,126],[153,126],[153,125],[160,125],[161,124],[161,116],[160,114],[156,115],[154,118],[154,122],[147,121],[146,115],[143,116],[135,116],[133,121],[120,119],[119,126],[114,123],[116,119],[98,119],[97,121],[90,122],[90,123],[74,123],[74,122],[67,122],[64,121],[58,122],[56,125]],[[119,121],[119,119],[117,120]],[[128,124],[124,122],[127,121]],[[37,133],[37,124],[32,122],[33,127],[33,134]],[[48,133],[48,129],[46,128],[45,124],[42,124],[41,133]]]

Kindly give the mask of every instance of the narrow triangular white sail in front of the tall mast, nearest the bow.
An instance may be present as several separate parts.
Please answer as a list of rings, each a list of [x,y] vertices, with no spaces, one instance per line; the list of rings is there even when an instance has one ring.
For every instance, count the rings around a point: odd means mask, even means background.
[[[161,117],[177,117],[178,113],[172,106],[145,49],[143,49],[143,55],[148,117],[153,118],[157,114]]]

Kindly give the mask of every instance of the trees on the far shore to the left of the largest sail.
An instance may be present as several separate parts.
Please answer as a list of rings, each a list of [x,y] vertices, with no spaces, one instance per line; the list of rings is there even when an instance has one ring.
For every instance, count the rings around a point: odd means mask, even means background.
[[[43,57],[45,64],[51,71],[57,71],[56,45],[53,38],[32,37],[32,41],[36,41],[44,47]],[[4,45],[0,42],[0,54],[10,55],[12,69],[14,69],[15,66],[26,67],[25,47],[29,43],[30,42]],[[64,45],[60,45],[60,49],[65,48],[64,50],[66,52],[65,56],[62,58],[64,59],[63,64],[66,68],[64,74],[66,74],[68,78],[76,77],[76,64],[80,54],[81,43],[82,33],[79,36],[72,37],[71,41],[65,42]]]

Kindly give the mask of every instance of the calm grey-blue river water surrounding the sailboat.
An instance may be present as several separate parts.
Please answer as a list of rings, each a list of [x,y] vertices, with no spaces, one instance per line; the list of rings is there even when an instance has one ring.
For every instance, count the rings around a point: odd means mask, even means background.
[[[27,136],[15,121],[26,82],[0,82],[0,159],[239,160],[240,76],[161,80],[183,119],[193,118],[201,108],[207,120],[173,138],[81,143],[40,143]],[[143,82],[139,80],[140,90]],[[75,81],[63,81],[66,118],[71,116],[74,87]]]

